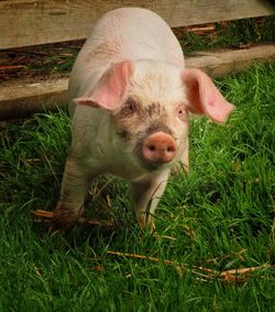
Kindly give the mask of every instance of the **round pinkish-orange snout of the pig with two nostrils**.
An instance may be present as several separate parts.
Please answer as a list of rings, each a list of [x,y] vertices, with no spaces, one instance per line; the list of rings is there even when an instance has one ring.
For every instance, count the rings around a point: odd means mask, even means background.
[[[166,164],[174,159],[177,152],[175,140],[167,133],[155,132],[143,143],[142,156],[150,164]]]

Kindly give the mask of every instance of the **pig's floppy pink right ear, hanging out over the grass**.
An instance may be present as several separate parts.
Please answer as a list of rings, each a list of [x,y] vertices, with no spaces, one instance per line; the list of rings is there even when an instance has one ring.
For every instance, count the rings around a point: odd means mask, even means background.
[[[234,105],[222,97],[212,80],[199,69],[185,69],[182,77],[189,110],[195,114],[205,114],[216,122],[226,122]]]

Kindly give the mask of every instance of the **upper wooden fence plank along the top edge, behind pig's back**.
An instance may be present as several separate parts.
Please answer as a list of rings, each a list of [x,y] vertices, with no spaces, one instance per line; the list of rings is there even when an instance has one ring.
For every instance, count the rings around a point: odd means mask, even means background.
[[[275,14],[268,0],[2,0],[0,49],[86,38],[95,21],[120,7],[147,8],[172,27]]]

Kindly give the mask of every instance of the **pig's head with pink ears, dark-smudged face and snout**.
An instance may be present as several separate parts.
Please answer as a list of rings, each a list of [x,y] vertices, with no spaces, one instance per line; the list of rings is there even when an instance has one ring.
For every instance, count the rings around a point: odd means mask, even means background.
[[[174,166],[188,148],[189,112],[222,123],[234,108],[201,70],[153,59],[114,64],[75,101],[108,111],[112,143],[148,171]]]

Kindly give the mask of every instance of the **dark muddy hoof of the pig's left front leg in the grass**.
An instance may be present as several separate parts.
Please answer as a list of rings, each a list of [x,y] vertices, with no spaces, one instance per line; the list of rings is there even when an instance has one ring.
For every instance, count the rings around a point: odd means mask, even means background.
[[[66,208],[59,205],[54,211],[54,215],[52,219],[51,232],[55,232],[61,230],[62,232],[69,232],[77,221],[77,215],[67,210]]]

